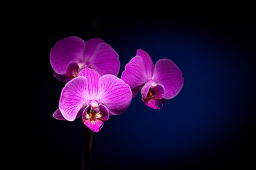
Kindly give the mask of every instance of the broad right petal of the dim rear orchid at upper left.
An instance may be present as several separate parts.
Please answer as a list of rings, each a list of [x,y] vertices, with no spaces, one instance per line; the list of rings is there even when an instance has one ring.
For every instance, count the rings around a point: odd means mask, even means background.
[[[118,54],[105,42],[97,45],[94,54],[90,57],[89,67],[95,69],[101,76],[113,74],[117,76],[120,69]]]

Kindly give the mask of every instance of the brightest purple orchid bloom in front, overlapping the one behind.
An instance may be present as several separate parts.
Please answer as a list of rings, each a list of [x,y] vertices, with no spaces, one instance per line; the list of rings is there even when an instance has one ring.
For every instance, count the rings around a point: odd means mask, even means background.
[[[110,115],[124,113],[132,101],[128,84],[112,74],[100,77],[94,69],[82,69],[63,88],[53,117],[73,121],[82,115],[90,130],[99,132]]]

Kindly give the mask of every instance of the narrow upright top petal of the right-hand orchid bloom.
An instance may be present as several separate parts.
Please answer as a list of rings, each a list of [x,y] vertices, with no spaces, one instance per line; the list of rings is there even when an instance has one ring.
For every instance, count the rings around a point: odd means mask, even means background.
[[[151,79],[154,72],[154,63],[151,57],[147,52],[145,52],[142,49],[138,49],[136,55],[142,57],[145,71],[146,71],[146,77],[147,79]]]

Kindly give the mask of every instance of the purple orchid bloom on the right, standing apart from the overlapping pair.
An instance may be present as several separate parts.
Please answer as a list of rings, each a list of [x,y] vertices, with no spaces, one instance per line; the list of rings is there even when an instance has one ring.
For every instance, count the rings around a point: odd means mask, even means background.
[[[142,89],[142,101],[154,109],[160,109],[165,99],[174,98],[183,86],[182,72],[169,59],[153,61],[147,52],[137,50],[137,54],[125,66],[121,79],[132,89],[132,97]]]

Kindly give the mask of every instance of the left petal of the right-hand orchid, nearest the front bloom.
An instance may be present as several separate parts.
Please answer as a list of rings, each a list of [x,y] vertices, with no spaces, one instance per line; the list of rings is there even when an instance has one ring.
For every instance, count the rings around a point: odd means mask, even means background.
[[[135,56],[126,64],[121,79],[131,87],[132,97],[139,93],[139,90],[147,81],[142,57]]]

